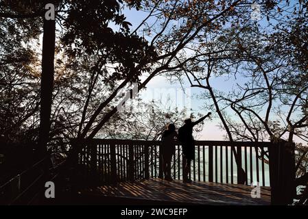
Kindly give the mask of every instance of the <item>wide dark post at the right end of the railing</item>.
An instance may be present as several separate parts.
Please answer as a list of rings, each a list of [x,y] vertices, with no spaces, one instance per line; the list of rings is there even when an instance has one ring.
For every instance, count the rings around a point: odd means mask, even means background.
[[[283,140],[268,148],[272,205],[287,205],[293,202],[296,194],[294,149],[294,143]]]

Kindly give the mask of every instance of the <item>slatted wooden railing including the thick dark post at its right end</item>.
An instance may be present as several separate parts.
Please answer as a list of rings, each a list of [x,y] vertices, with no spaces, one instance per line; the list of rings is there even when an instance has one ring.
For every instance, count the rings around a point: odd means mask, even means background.
[[[99,183],[163,177],[159,141],[99,140],[84,144],[78,164],[87,179]],[[292,203],[296,194],[294,143],[196,141],[196,159],[191,165],[193,181],[270,186],[272,204]],[[232,151],[236,149],[237,163]],[[182,146],[176,142],[171,161],[174,179],[182,179]],[[94,178],[93,178],[94,177]],[[241,181],[242,183],[242,181]]]

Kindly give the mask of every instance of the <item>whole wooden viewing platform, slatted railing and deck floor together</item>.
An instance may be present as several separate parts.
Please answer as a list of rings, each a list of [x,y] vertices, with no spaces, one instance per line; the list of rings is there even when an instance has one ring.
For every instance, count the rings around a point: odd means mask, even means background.
[[[159,141],[91,140],[79,145],[74,169],[66,172],[58,168],[47,176],[42,164],[48,159],[42,159],[0,186],[0,203],[286,205],[296,194],[294,144],[196,141],[196,159],[190,172],[193,183],[189,184],[181,181],[183,157],[179,143],[171,161],[172,182],[161,179]],[[245,172],[241,177],[244,181],[239,181],[241,170]],[[57,198],[52,201],[43,194],[47,178],[58,188]],[[250,185],[255,182],[261,185],[260,198],[251,196]]]

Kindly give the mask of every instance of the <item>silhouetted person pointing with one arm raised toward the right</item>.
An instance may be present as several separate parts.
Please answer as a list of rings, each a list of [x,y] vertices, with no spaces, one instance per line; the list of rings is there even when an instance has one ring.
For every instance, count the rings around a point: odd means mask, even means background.
[[[206,117],[211,115],[209,112],[196,122],[191,122],[191,118],[185,120],[185,125],[178,129],[178,139],[182,142],[183,150],[183,181],[190,183],[189,172],[191,172],[191,160],[195,160],[195,141],[193,140],[193,127],[201,123]]]

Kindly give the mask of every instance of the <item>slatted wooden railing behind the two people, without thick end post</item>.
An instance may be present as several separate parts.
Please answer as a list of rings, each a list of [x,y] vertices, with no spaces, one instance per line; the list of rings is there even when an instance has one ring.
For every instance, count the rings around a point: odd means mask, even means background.
[[[159,141],[94,139],[83,147],[79,164],[85,175],[94,174],[102,182],[162,177],[160,144]],[[235,147],[246,172],[246,184],[259,182],[270,186],[268,148],[271,145],[270,142],[196,141],[191,179],[237,183],[239,168],[231,150]],[[171,161],[171,175],[174,179],[182,179],[182,146],[179,142]]]

